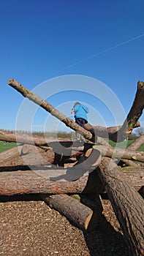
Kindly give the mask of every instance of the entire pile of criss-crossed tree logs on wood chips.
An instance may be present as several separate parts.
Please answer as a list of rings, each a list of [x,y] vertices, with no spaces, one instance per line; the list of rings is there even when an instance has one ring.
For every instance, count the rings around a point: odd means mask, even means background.
[[[110,128],[90,124],[79,127],[17,81],[8,83],[48,112],[53,110],[53,116],[81,132],[89,143],[52,141],[1,131],[0,140],[15,141],[20,146],[0,154],[0,195],[37,193],[80,228],[92,230],[103,210],[100,195],[107,192],[130,255],[144,255],[144,153],[137,151],[144,143],[144,135],[125,150],[113,148],[105,140],[123,141],[140,125],[144,83],[137,84],[134,103],[124,124]]]

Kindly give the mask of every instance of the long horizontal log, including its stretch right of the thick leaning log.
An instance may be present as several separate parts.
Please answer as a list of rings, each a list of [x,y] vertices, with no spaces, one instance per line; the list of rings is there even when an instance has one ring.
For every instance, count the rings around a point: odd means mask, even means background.
[[[8,167],[7,169],[10,169]],[[1,167],[0,172],[0,195],[18,195],[18,194],[73,194],[73,193],[96,193],[101,194],[105,187],[99,179],[96,171],[90,174],[86,172],[84,176],[77,181],[68,181],[67,169],[35,169],[31,170],[13,170],[5,172],[5,167]],[[77,169],[78,171],[78,169]],[[69,168],[72,172],[72,168]],[[121,168],[121,175],[132,181],[134,189],[139,191],[143,187],[144,168],[136,172]],[[69,178],[69,176],[68,176]]]

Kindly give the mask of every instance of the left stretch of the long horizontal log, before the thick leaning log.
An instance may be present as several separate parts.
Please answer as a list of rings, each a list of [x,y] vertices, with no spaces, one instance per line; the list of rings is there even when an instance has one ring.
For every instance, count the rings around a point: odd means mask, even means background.
[[[67,170],[62,170],[67,172]],[[50,170],[26,170],[0,173],[0,195],[19,194],[74,194],[74,193],[102,193],[105,188],[99,181],[99,176],[94,171],[88,172],[77,181],[52,181],[50,176],[61,175],[61,169]],[[37,174],[38,173],[38,174]],[[45,177],[45,178],[43,178]]]

